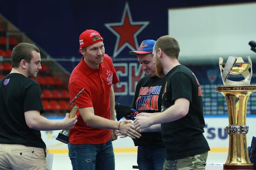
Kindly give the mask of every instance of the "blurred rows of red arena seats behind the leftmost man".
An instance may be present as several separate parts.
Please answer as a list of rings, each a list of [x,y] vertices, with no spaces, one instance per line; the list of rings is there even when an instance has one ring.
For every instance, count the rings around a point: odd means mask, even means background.
[[[14,46],[20,43],[22,37],[19,33],[8,33],[7,27],[3,27],[0,23],[0,79],[9,74],[12,70],[11,56]],[[8,37],[7,37],[8,35]],[[41,59],[42,55],[41,55]],[[46,116],[63,116],[69,112],[71,108],[67,108],[69,104],[69,93],[67,90],[68,75],[56,71],[52,63],[41,62],[42,69],[37,74],[36,78],[31,78],[37,81],[42,89],[41,98]],[[56,73],[53,71],[58,73]]]

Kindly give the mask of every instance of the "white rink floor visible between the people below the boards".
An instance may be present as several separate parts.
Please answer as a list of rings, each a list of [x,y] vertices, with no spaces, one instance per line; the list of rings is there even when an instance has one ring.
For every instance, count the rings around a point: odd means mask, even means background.
[[[133,170],[132,166],[136,165],[135,153],[116,153],[115,170]],[[207,163],[222,164],[227,159],[227,153],[209,152]],[[218,168],[207,168],[206,170],[217,170]],[[222,168],[220,168],[222,169]],[[67,154],[54,154],[52,170],[72,170],[71,162]]]

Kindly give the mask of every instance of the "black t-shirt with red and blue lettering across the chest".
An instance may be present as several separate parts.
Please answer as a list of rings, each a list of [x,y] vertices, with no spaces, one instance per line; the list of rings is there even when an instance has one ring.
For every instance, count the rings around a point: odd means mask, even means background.
[[[145,76],[136,85],[131,107],[141,112],[160,112],[165,78]],[[164,147],[161,132],[144,132],[133,139],[135,146]]]

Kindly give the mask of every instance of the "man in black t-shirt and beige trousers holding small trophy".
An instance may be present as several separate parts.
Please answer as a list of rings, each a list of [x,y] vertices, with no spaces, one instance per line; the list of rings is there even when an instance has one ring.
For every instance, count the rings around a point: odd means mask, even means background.
[[[12,70],[0,80],[0,169],[49,170],[46,145],[40,131],[71,129],[77,116],[52,121],[44,112],[40,85],[35,78],[40,65],[39,49],[28,43],[13,48]]]

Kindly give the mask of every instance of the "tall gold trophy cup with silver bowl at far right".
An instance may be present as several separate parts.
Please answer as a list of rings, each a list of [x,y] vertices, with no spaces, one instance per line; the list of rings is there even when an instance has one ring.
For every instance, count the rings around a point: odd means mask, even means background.
[[[256,85],[250,85],[252,62],[249,56],[247,59],[248,62],[244,62],[241,57],[229,56],[226,63],[223,63],[221,57],[219,59],[223,85],[216,86],[216,92],[225,97],[229,114],[229,125],[226,127],[229,153],[223,170],[253,170],[247,150],[246,134],[249,127],[246,125],[246,110],[249,96],[256,91]],[[230,74],[243,76],[243,79],[230,80]]]

